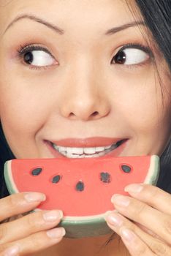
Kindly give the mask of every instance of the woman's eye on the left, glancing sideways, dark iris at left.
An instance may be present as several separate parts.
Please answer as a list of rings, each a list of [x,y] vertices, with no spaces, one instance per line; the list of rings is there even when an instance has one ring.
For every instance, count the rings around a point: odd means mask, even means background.
[[[37,45],[21,47],[18,53],[24,63],[34,67],[47,67],[56,64],[52,54],[46,48]]]

